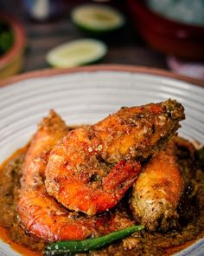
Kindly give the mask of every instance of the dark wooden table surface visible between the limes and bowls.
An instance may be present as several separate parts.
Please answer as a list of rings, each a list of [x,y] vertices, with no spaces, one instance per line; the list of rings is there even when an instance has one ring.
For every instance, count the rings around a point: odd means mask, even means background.
[[[28,18],[19,1],[1,2],[0,0],[0,3],[2,5],[1,11],[9,12],[16,16],[22,22],[26,31],[28,47],[22,72],[48,68],[45,56],[48,50],[54,46],[73,39],[90,37],[76,28],[71,22],[68,8],[64,16],[53,22],[36,23]],[[123,30],[112,36],[102,38],[109,50],[107,56],[100,63],[132,64],[168,69],[166,56],[156,52],[154,49],[150,49],[143,42],[131,24],[125,5],[122,6],[123,8],[127,23]]]

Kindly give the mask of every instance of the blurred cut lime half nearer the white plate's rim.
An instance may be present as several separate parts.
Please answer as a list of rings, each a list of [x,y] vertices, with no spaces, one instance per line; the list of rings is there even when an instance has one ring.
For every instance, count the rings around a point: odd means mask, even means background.
[[[105,43],[95,39],[79,39],[51,49],[47,62],[56,68],[72,68],[97,62],[107,52]]]

